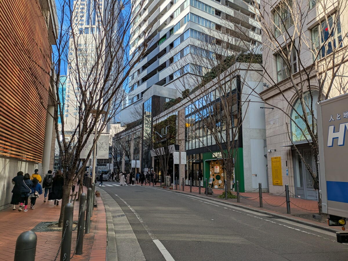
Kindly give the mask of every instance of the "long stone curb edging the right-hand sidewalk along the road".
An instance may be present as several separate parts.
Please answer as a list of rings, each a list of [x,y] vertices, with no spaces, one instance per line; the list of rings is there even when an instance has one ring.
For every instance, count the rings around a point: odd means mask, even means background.
[[[163,188],[158,188],[158,189],[163,189]],[[190,194],[188,192],[183,192],[183,191],[178,191],[178,190],[167,190],[167,189],[163,189],[163,190],[166,190],[166,191],[169,191],[169,192],[185,194],[185,195],[191,195],[191,196],[198,197],[198,198],[209,199],[211,201],[224,203],[224,204],[231,205],[231,206],[240,207],[241,209],[251,210],[251,211],[259,212],[259,213],[262,213],[262,214],[267,214],[267,215],[270,215],[270,216],[273,216],[273,217],[276,217],[276,218],[280,218],[280,219],[290,220],[290,221],[293,221],[293,222],[296,222],[296,223],[300,223],[302,225],[323,229],[323,230],[330,231],[330,232],[333,232],[333,233],[336,233],[338,231],[336,229],[322,227],[320,225],[316,225],[316,224],[311,223],[311,222],[306,222],[306,221],[299,220],[299,219],[296,219],[296,218],[287,217],[287,216],[282,215],[282,214],[270,213],[270,212],[267,212],[267,211],[264,211],[264,210],[259,210],[259,209],[255,209],[253,207],[248,207],[248,206],[244,206],[244,205],[238,205],[238,204],[235,204],[235,203],[232,203],[232,202],[223,202],[223,201],[220,201],[220,200],[215,199],[215,198],[200,196],[200,195],[196,195],[196,194]]]

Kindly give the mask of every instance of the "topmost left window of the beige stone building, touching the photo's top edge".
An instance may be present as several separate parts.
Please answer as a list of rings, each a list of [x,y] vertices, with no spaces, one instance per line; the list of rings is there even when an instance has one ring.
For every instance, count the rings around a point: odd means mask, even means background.
[[[278,37],[285,29],[290,28],[294,21],[289,9],[292,8],[291,0],[282,0],[279,5],[272,11],[275,36]]]

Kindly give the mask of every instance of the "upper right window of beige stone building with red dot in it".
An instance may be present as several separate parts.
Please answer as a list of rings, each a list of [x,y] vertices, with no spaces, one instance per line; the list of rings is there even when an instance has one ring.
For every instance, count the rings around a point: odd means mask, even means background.
[[[340,20],[333,21],[332,16],[328,17],[327,20],[329,21],[329,25],[324,21],[311,30],[313,49],[318,59],[331,54],[335,48],[342,47]]]

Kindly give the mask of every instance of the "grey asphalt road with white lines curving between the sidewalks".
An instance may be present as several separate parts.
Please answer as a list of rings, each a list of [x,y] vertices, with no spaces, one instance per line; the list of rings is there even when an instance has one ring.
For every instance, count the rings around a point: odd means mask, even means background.
[[[329,231],[149,186],[102,189],[126,214],[146,260],[348,260],[348,245]]]

